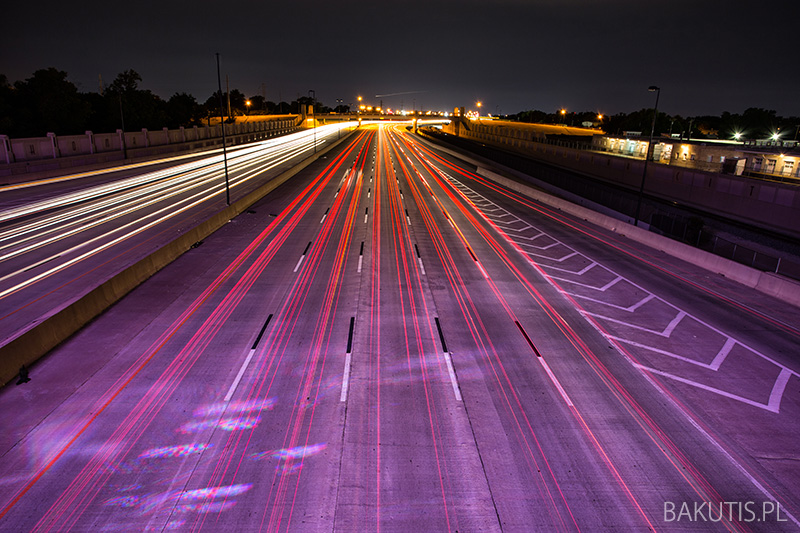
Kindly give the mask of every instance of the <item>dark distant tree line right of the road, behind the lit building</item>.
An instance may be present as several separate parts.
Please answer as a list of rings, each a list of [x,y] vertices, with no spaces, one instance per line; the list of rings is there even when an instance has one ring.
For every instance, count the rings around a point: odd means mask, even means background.
[[[601,116],[595,111],[548,113],[530,110],[510,115],[510,120],[539,124],[566,124],[581,126],[591,123],[609,135],[622,135],[638,131],[649,135],[653,127],[653,108],[632,113]],[[703,115],[683,117],[659,112],[655,121],[655,135],[679,135],[686,139],[769,139],[778,135],[782,140],[800,140],[800,117],[781,117],[774,110],[751,107],[743,113],[724,112],[719,116]]]

